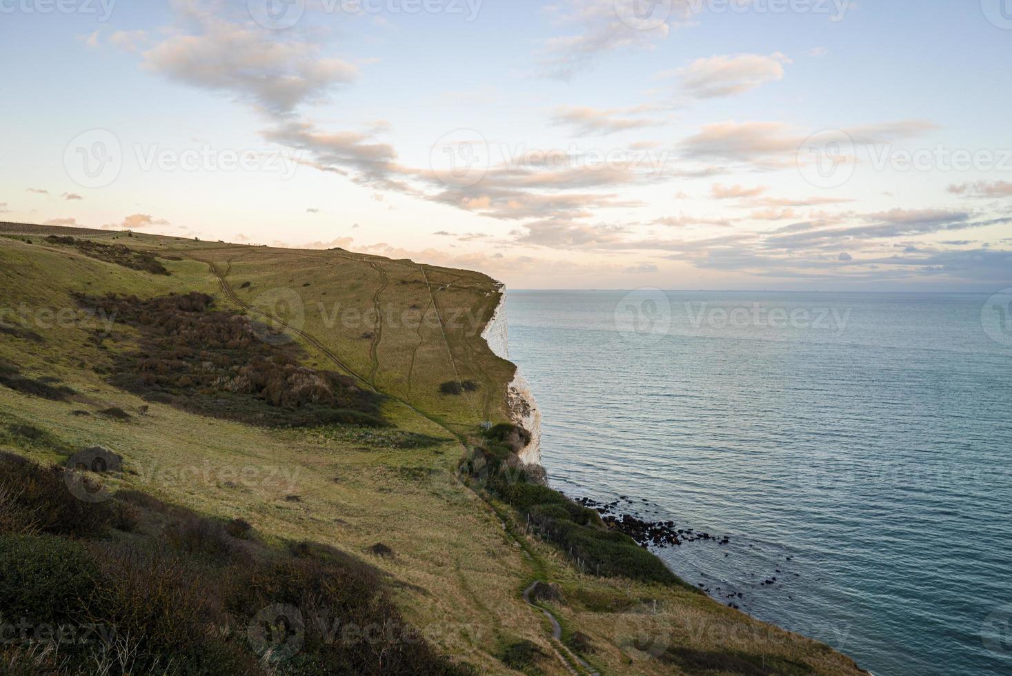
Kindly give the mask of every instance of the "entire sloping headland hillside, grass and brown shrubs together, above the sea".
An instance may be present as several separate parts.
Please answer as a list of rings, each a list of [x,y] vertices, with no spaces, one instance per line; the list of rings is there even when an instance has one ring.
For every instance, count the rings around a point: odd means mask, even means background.
[[[524,484],[509,440],[482,432],[507,421],[514,370],[480,336],[491,278],[342,250],[0,233],[0,559],[27,571],[0,584],[0,623],[90,613],[133,631],[116,650],[5,643],[0,671],[123,673],[110,656],[125,652],[157,673],[859,673],[673,576],[582,572],[574,545],[625,541]],[[209,305],[179,306],[191,292]],[[477,387],[442,394],[452,382]],[[46,469],[95,446],[121,466]],[[562,534],[528,534],[532,515]],[[153,567],[171,573],[157,616],[116,582],[146,589]],[[77,610],[47,615],[58,605]],[[359,639],[307,619],[293,654],[264,661],[250,627],[275,605]],[[361,639],[373,624],[400,628]]]

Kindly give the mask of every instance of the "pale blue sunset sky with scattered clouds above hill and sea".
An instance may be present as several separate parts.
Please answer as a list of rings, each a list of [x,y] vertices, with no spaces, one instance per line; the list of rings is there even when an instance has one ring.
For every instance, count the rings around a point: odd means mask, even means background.
[[[513,288],[1012,286],[1012,0],[0,0],[0,221]]]

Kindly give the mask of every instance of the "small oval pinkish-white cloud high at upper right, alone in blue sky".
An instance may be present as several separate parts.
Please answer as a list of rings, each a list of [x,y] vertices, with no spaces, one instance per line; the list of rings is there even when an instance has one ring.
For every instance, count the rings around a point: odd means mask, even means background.
[[[675,73],[681,78],[682,90],[692,98],[716,98],[782,80],[783,66],[790,63],[779,52],[769,56],[737,54],[696,59]]]

